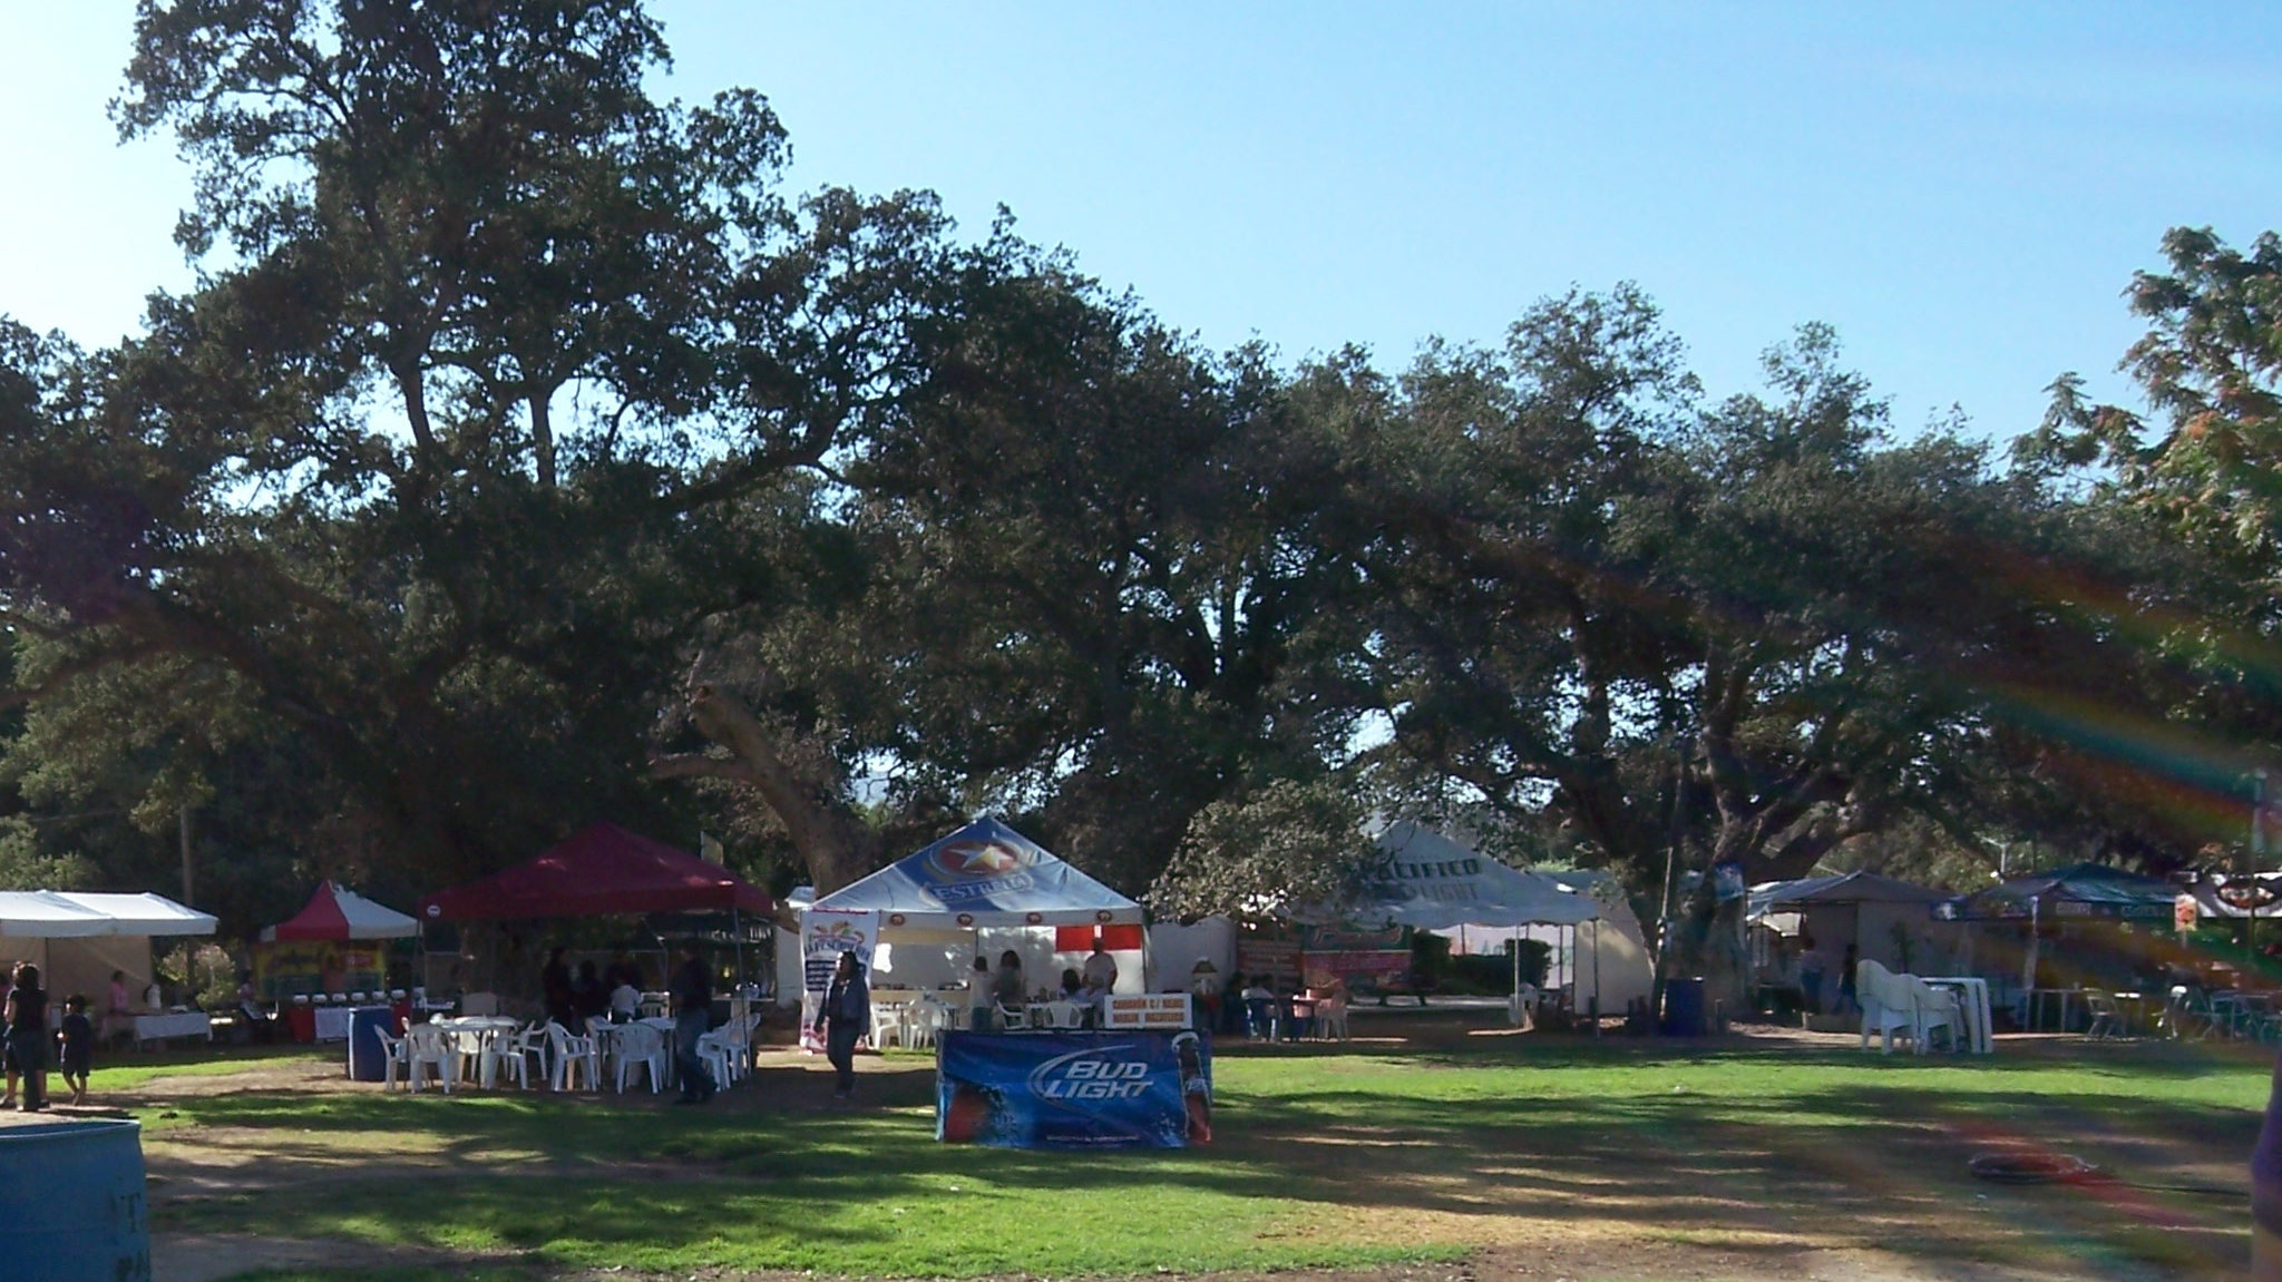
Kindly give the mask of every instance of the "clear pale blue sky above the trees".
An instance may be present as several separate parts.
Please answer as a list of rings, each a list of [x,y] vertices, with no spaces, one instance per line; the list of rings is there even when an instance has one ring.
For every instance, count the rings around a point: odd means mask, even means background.
[[[1810,319],[1917,427],[2118,397],[2156,240],[2282,226],[2277,5],[669,0],[669,89],[751,84],[803,187],[1006,203],[1205,342],[1486,342],[1638,281],[1714,392]],[[187,178],[103,119],[132,5],[0,0],[0,313],[128,331]]]

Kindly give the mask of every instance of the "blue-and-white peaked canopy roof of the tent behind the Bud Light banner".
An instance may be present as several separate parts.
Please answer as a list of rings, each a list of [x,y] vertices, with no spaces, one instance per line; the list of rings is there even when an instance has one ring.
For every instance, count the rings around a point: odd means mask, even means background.
[[[885,926],[1143,924],[1139,903],[997,819],[977,819],[808,910],[879,912]]]

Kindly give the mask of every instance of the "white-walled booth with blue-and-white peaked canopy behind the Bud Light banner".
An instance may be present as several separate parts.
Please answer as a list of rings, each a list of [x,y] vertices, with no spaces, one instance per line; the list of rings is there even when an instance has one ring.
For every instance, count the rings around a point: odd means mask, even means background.
[[[974,958],[995,967],[1004,951],[1022,958],[1031,992],[1059,988],[1095,940],[1118,963],[1114,995],[1148,990],[1141,906],[997,819],[977,819],[810,903],[806,894],[790,899],[801,938],[778,935],[783,1004],[817,992],[842,947],[869,954],[876,1006],[926,999],[963,1015]]]

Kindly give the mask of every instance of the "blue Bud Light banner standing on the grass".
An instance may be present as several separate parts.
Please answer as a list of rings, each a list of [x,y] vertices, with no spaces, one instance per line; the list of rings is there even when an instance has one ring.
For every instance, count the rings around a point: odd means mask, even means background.
[[[936,1138],[990,1147],[1212,1141],[1212,1047],[1196,1033],[942,1033]]]

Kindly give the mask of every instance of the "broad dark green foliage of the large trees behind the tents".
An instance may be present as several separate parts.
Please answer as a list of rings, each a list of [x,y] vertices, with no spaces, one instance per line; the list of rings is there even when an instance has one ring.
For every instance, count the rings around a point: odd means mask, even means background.
[[[201,271],[107,349],[0,324],[0,881],[169,885],[187,823],[246,931],[607,817],[828,890],[988,810],[1196,912],[1426,817],[1657,910],[2243,830],[2271,233],[2172,233],[2147,413],[2063,376],[2004,454],[1816,324],[1714,399],[1629,283],[1209,351],[1011,214],[787,192],[666,57],[632,2],[144,2],[114,112]]]

